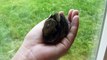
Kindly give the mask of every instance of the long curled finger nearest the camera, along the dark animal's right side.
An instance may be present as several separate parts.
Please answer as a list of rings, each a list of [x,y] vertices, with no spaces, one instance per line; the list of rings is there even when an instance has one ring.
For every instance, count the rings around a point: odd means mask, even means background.
[[[67,35],[67,38],[64,38],[62,42],[57,45],[59,51],[65,52],[70,48],[77,34],[78,26],[79,26],[79,16],[76,15],[73,17],[72,27],[70,29],[69,34]]]

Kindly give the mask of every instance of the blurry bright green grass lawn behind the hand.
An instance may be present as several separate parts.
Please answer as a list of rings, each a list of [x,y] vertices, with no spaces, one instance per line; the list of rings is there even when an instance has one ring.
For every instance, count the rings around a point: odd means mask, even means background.
[[[61,60],[95,58],[99,42],[104,0],[0,0],[0,60],[9,60],[16,53],[25,35],[51,13],[69,9],[80,12],[78,35]],[[94,50],[94,51],[93,51]]]

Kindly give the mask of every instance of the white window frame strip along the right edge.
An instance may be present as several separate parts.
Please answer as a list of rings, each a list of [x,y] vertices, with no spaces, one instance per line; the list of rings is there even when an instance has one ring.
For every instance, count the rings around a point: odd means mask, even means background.
[[[104,25],[102,29],[102,36],[101,36],[96,60],[104,60],[104,55],[105,55],[106,48],[107,48],[107,3],[106,3],[106,8],[105,8],[105,17],[104,17],[103,24]]]

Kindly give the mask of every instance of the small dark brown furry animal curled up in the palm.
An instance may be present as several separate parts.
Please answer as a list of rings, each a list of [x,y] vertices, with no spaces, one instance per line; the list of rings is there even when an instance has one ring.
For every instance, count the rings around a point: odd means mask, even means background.
[[[68,34],[68,22],[63,14],[51,15],[43,27],[43,40],[46,44],[57,44]]]

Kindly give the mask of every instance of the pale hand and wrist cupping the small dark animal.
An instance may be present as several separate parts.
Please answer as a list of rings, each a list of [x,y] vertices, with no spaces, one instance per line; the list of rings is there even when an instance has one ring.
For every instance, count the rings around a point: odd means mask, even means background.
[[[60,12],[60,14],[63,14]],[[72,45],[79,26],[77,10],[68,13],[69,25],[71,25],[67,37],[56,45],[46,45],[42,38],[42,28],[45,20],[37,24],[25,37],[20,49],[12,60],[57,60],[64,55]]]

